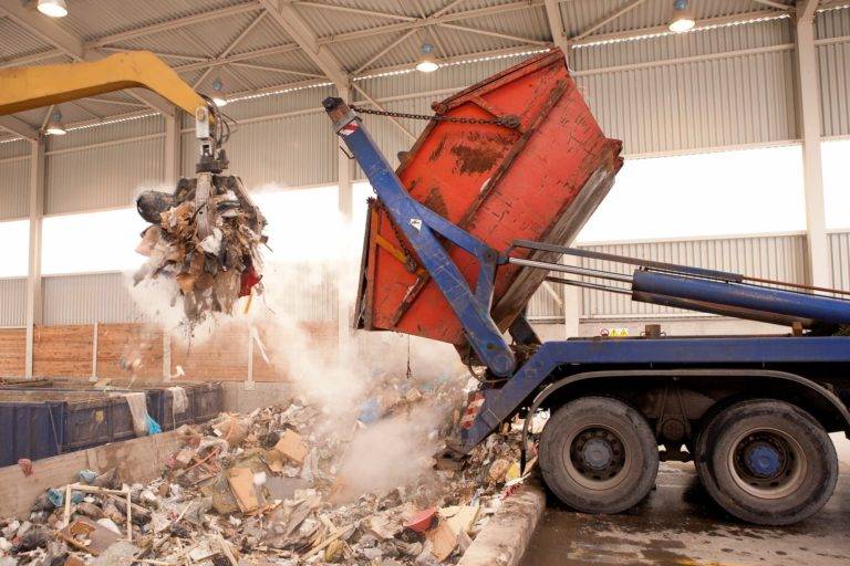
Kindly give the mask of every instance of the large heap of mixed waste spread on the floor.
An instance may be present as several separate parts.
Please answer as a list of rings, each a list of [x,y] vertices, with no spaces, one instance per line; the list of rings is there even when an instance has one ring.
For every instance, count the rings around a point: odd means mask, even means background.
[[[39,497],[27,521],[0,520],[0,566],[454,564],[525,480],[519,436],[491,436],[463,467],[352,491],[344,467],[359,434],[386,419],[415,427],[428,408],[452,408],[423,424],[428,438],[444,440],[459,421],[456,384],[383,389],[351,428],[321,426],[334,418],[297,399],[184,427],[183,448],[146,485],[82,471]]]

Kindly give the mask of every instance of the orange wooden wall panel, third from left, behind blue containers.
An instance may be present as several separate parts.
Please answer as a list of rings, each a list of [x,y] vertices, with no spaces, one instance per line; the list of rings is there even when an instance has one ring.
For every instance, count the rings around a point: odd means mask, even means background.
[[[147,380],[163,377],[163,331],[149,324],[97,325],[97,377],[132,377],[122,367],[138,359],[136,376]]]

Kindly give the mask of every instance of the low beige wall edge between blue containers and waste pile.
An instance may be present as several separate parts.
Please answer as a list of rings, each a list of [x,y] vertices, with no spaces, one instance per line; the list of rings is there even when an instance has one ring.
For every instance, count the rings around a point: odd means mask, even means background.
[[[0,468],[0,516],[25,518],[33,501],[48,488],[76,481],[80,470],[105,472],[117,468],[122,481],[145,483],[157,478],[168,457],[180,448],[178,431],[164,432],[124,442],[45,458],[33,462],[33,473],[23,475],[20,467]]]

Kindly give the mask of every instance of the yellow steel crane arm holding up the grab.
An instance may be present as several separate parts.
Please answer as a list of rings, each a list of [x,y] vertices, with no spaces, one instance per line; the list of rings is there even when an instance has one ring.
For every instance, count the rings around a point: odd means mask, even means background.
[[[91,63],[0,70],[0,116],[133,87],[153,91],[190,115],[207,106],[159,57],[129,51]]]

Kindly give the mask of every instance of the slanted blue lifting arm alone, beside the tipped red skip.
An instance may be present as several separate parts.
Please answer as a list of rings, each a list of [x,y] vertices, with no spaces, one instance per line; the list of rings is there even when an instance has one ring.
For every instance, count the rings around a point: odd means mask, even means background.
[[[498,252],[415,201],[366,130],[361,127],[360,118],[342,98],[325,98],[322,104],[333,122],[334,130],[366,174],[393,222],[404,232],[452,305],[478,358],[499,377],[512,375],[516,368],[514,353],[490,317]],[[469,289],[436,234],[445,237],[478,260],[475,292]]]

